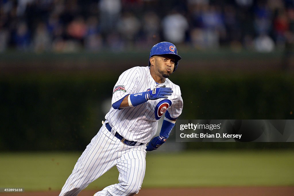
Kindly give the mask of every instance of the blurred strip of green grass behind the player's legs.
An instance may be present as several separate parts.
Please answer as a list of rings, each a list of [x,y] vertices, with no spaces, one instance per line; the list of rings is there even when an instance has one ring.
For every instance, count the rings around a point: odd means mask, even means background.
[[[60,190],[81,152],[0,153],[0,187]],[[200,151],[147,155],[142,187],[293,186],[293,151]],[[91,183],[117,183],[116,167]]]

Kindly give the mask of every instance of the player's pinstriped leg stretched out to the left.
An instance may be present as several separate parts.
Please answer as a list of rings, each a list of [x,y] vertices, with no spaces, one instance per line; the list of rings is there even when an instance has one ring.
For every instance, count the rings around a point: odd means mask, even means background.
[[[114,138],[106,127],[102,126],[78,159],[60,196],[78,195],[91,182],[110,170],[116,163],[118,144],[117,138]]]

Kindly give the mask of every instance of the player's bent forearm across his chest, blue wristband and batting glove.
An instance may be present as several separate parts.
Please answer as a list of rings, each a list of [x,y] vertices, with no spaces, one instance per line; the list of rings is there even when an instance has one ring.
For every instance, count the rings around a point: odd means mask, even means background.
[[[123,98],[123,100],[119,100],[119,108],[126,108],[126,107],[134,107],[137,105],[140,105],[142,103],[147,102],[148,100],[155,100],[164,98],[167,99],[167,95],[171,95],[173,93],[173,90],[171,88],[166,87],[163,85],[159,88],[154,88],[152,91],[146,91],[136,94],[128,94],[126,97]],[[113,104],[118,105],[118,104]],[[118,108],[115,108],[118,109]]]

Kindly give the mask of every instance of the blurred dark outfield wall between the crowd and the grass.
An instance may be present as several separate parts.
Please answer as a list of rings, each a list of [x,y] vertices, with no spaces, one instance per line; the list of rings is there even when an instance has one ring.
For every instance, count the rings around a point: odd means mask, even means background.
[[[141,53],[131,54],[121,59],[111,53],[101,59],[101,54],[0,54],[0,151],[83,150],[111,107],[118,76],[140,65],[132,60],[148,61]],[[170,77],[181,87],[180,119],[293,119],[294,74],[289,67],[282,68],[282,53],[185,55],[188,60],[183,58]],[[252,70],[232,68],[233,63],[245,66],[244,59]],[[262,63],[254,68],[258,61]],[[270,61],[271,69],[262,68]],[[203,142],[187,147],[293,148],[293,144]]]

